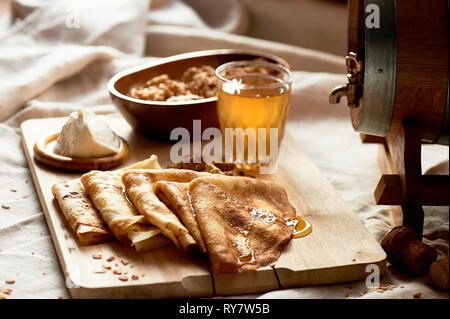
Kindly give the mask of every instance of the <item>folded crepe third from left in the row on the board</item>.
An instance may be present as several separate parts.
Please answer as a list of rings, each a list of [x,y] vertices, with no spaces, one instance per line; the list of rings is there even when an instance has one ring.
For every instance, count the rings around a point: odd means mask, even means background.
[[[128,198],[140,214],[170,238],[182,251],[193,252],[199,248],[197,241],[178,217],[156,196],[153,184],[157,181],[190,182],[210,173],[181,169],[130,170],[122,176]]]

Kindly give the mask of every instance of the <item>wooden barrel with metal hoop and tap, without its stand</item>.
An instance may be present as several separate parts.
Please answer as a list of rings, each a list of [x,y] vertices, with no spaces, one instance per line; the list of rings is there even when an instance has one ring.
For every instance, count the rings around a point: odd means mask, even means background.
[[[349,83],[356,131],[398,134],[402,120],[420,123],[423,142],[448,145],[449,1],[349,0]]]

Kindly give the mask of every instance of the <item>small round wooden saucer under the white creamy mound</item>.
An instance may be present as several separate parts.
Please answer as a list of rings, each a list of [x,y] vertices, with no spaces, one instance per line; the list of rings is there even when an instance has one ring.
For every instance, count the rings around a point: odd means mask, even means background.
[[[68,171],[85,172],[93,169],[107,170],[122,164],[130,153],[130,147],[127,141],[120,137],[119,152],[109,156],[103,157],[84,157],[72,158],[56,154],[53,148],[56,144],[58,133],[53,133],[49,136],[39,139],[33,147],[34,157],[45,165],[59,168]]]

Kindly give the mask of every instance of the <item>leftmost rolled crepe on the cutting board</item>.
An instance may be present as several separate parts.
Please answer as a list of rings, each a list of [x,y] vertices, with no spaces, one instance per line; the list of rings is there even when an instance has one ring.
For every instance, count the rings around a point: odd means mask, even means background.
[[[81,245],[94,245],[114,239],[79,179],[53,185],[52,193]]]

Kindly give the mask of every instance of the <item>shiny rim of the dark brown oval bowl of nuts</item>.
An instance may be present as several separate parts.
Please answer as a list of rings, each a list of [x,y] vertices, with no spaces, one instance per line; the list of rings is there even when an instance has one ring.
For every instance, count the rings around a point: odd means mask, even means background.
[[[277,61],[278,63],[282,64],[284,67],[286,67],[289,70],[292,70],[292,67],[290,64],[284,60],[281,57],[278,57],[274,54],[265,53],[258,50],[244,50],[244,49],[216,49],[216,50],[202,50],[202,51],[192,51],[192,52],[186,52],[181,54],[172,55],[165,58],[159,58],[155,61],[150,61],[148,63],[144,63],[138,66],[134,66],[128,69],[125,69],[123,71],[120,71],[119,73],[115,74],[109,81],[108,81],[108,91],[111,95],[121,99],[126,100],[133,103],[138,103],[141,105],[148,105],[148,106],[185,106],[185,105],[195,105],[195,104],[202,104],[202,103],[209,103],[214,102],[217,100],[217,97],[209,97],[204,99],[198,99],[198,100],[191,100],[191,101],[179,101],[179,102],[167,102],[167,101],[152,101],[152,100],[141,100],[136,99],[133,97],[130,97],[128,95],[120,93],[116,88],[115,84],[117,81],[119,81],[121,78],[130,75],[135,72],[142,71],[144,69],[148,69],[157,65],[166,64],[170,62],[174,62],[177,60],[182,59],[189,59],[189,58],[197,58],[197,57],[203,57],[203,56],[209,56],[209,55],[227,55],[227,54],[248,54],[248,55],[255,55],[262,58],[268,58],[274,61]],[[228,62],[227,62],[228,63]]]

